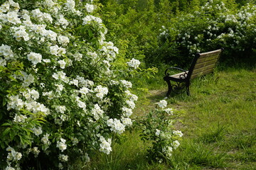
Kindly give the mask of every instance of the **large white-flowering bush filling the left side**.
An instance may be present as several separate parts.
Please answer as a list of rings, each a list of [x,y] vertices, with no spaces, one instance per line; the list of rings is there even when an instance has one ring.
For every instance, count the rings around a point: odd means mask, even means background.
[[[0,169],[67,169],[95,149],[110,154],[113,135],[132,125],[137,96],[112,67],[118,48],[105,40],[96,7],[0,4]],[[125,69],[139,67],[130,63]]]

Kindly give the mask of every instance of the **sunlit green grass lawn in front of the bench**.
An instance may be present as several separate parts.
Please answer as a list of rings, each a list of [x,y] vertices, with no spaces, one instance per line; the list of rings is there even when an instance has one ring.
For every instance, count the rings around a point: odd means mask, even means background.
[[[146,114],[164,99],[166,84],[137,103],[134,115]],[[256,169],[256,69],[228,68],[191,84],[191,96],[166,99],[169,107],[184,111],[180,147],[166,164],[149,164],[150,143],[139,139],[139,130],[125,132],[110,155],[95,153],[80,169]]]

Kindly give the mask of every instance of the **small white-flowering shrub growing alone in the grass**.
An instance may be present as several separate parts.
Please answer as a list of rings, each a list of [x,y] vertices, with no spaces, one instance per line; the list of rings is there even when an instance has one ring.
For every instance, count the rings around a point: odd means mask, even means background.
[[[176,130],[175,123],[181,111],[166,108],[167,101],[156,103],[156,108],[138,121],[142,130],[141,137],[144,141],[151,142],[147,150],[149,161],[166,162],[171,159],[172,152],[180,145],[183,133]]]

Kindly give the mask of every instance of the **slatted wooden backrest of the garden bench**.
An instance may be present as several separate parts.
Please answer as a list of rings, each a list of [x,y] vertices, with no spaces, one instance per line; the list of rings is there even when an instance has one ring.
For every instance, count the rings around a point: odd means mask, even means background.
[[[222,51],[223,48],[196,54],[196,57],[194,57],[191,67],[188,70],[188,77],[190,77],[190,79],[194,79],[213,72]]]

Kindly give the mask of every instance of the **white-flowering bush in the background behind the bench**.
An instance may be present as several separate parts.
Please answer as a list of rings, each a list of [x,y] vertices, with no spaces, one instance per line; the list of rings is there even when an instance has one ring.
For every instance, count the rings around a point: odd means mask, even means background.
[[[209,1],[196,11],[177,16],[168,30],[161,30],[161,46],[178,56],[165,55],[164,60],[174,64],[189,63],[197,52],[220,47],[225,48],[224,57],[228,61],[250,56],[256,43],[256,6],[246,4],[230,8],[228,2],[225,3]]]

